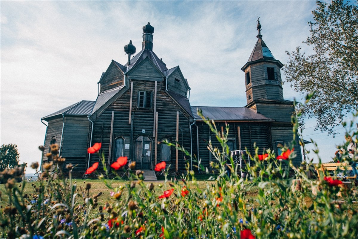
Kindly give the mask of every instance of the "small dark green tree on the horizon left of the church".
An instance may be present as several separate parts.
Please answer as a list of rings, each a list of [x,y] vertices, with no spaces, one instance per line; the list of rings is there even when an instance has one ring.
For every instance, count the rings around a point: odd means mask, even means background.
[[[3,144],[0,147],[0,171],[3,171],[5,168],[15,168],[18,166],[23,166],[19,164],[19,152],[18,145],[16,144]],[[24,165],[25,166],[25,165]]]

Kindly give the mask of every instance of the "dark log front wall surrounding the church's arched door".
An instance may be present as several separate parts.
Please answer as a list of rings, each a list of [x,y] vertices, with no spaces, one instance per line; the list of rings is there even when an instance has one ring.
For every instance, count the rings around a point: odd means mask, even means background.
[[[95,127],[93,131],[92,143],[102,142],[102,150],[105,152],[105,157],[108,157],[109,139],[111,132],[111,115],[114,113],[113,119],[113,138],[122,137],[124,143],[129,144],[129,149],[124,150],[124,156],[129,157],[131,160],[137,160],[135,157],[135,140],[138,137],[148,137],[151,140],[150,147],[150,160],[154,164],[154,138],[153,138],[153,119],[154,108],[141,108],[138,107],[137,100],[139,91],[154,91],[155,83],[153,81],[138,81],[133,82],[133,95],[132,95],[132,138],[131,138],[131,124],[128,124],[129,119],[129,106],[130,106],[130,90],[127,90],[115,102],[113,102],[103,113],[97,116]],[[154,96],[154,94],[152,94]],[[154,98],[154,97],[153,97]],[[152,99],[154,100],[154,99]],[[153,104],[152,104],[153,105]],[[184,144],[186,148],[190,147],[190,134],[189,134],[189,115],[168,95],[162,87],[157,87],[157,104],[156,111],[158,112],[158,141],[163,139],[170,139],[175,142],[176,137],[176,111],[179,111],[179,144]],[[103,127],[102,127],[103,125]],[[142,133],[144,130],[144,133]],[[112,149],[114,150],[114,145]],[[160,161],[160,147],[158,147],[158,161]],[[112,153],[112,155],[114,155]],[[179,170],[184,166],[183,154],[179,153]],[[110,162],[115,159],[112,157]],[[152,162],[153,161],[153,162]],[[91,158],[90,164],[93,161]],[[175,149],[171,150],[172,167],[175,167]]]

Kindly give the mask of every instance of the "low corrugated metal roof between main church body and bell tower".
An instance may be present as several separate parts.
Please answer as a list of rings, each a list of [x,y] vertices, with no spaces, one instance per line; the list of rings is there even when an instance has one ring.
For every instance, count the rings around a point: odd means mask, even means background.
[[[197,114],[198,108],[211,120],[274,121],[246,107],[191,106],[193,117],[197,120],[201,119]]]

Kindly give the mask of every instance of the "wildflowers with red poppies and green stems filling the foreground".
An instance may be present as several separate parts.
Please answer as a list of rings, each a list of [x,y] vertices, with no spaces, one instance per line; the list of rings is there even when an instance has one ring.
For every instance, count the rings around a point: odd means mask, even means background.
[[[99,205],[101,193],[91,195],[90,183],[78,188],[72,182],[72,165],[67,165],[68,178],[62,177],[61,172],[53,167],[56,163],[64,163],[64,159],[58,160],[54,150],[50,157],[55,159],[52,161],[55,164],[44,164],[38,186],[32,185],[34,192],[31,194],[24,193],[25,181],[16,184],[13,181],[16,175],[2,172],[8,177],[5,185],[8,204],[1,208],[0,236],[357,238],[358,213],[353,202],[358,201],[357,190],[344,192],[337,186],[339,182],[332,181],[332,178],[322,181],[309,179],[307,172],[315,165],[310,161],[294,166],[292,159],[296,153],[290,145],[277,157],[270,149],[266,152],[256,149],[255,154],[248,154],[253,166],[247,166],[247,178],[239,177],[231,167],[228,167],[231,171],[228,176],[225,162],[229,158],[233,164],[233,158],[226,145],[227,135],[218,132],[214,122],[205,121],[221,143],[221,148],[213,148],[211,143],[208,145],[216,159],[212,167],[218,173],[209,178],[205,188],[198,186],[195,173],[189,170],[189,163],[186,174],[171,180],[167,178],[170,165],[158,164],[156,169],[163,172],[164,185],[146,185],[143,173],[137,170],[129,171],[129,180],[124,186],[114,187],[113,182],[120,178],[117,172],[124,170],[126,158],[118,158],[111,168],[107,168],[102,154],[103,173],[96,171],[98,163],[86,171],[88,174],[96,173],[108,190],[113,191],[112,200]],[[298,125],[294,124],[294,135],[297,129]],[[357,131],[353,132],[355,142],[358,142],[357,135]],[[175,147],[175,144],[167,144]],[[190,159],[185,149],[179,149]],[[99,150],[97,144],[95,151]],[[345,159],[352,162],[348,157]],[[357,151],[353,160],[357,161]],[[33,165],[36,166],[38,164]],[[113,179],[108,178],[111,172],[116,175]],[[300,190],[291,190],[294,179],[300,180]],[[311,185],[319,188],[316,196],[311,195]],[[345,193],[344,199],[337,196],[338,192]]]

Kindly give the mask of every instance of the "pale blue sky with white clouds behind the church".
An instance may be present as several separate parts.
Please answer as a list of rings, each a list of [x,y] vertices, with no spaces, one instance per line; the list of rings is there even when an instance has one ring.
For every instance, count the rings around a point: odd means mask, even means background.
[[[263,40],[285,64],[285,51],[310,52],[301,42],[315,8],[314,1],[2,0],[0,144],[17,144],[20,162],[39,161],[46,130],[40,119],[95,100],[111,60],[126,63],[129,40],[140,51],[147,22],[155,29],[153,51],[188,79],[191,105],[245,106],[240,68],[257,40],[257,16]],[[284,97],[301,99],[287,83]],[[332,139],[314,125],[307,121],[304,138],[316,140],[322,161],[330,161],[344,129]]]

